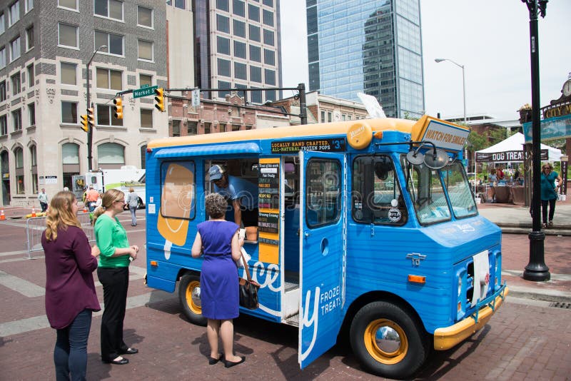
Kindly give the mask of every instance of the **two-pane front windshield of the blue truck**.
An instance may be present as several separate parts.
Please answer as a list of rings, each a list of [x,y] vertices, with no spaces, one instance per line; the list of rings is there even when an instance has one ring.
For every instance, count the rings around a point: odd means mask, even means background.
[[[412,165],[403,156],[407,188],[413,201],[418,222],[423,225],[450,220],[448,193],[455,218],[477,215],[468,179],[458,161],[442,169],[424,164]]]

